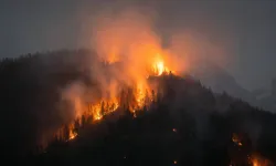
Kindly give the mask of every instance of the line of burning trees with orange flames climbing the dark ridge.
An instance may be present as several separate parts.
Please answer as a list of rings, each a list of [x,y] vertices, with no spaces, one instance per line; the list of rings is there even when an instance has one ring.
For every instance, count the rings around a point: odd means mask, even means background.
[[[136,117],[139,111],[149,110],[150,105],[161,100],[161,93],[157,91],[157,85],[149,84],[149,75],[163,76],[167,75],[169,71],[164,65],[164,62],[161,61],[160,54],[158,54],[158,59],[156,60],[157,61],[149,65],[150,70],[146,74],[148,76],[129,76],[128,74],[126,74],[125,76],[126,79],[129,79],[129,82],[127,82],[127,84],[120,84],[117,87],[118,93],[113,96],[110,96],[110,94],[113,93],[110,92],[112,90],[109,91],[107,89],[108,95],[105,95],[106,97],[98,97],[97,100],[94,98],[95,102],[88,102],[84,104],[84,102],[79,101],[79,97],[77,97],[78,102],[75,102],[74,106],[76,107],[75,112],[77,113],[76,120],[71,124],[66,124],[64,125],[64,127],[61,127],[56,132],[55,137],[57,137],[57,139],[62,142],[67,142],[75,138],[77,136],[77,128],[84,126],[89,117],[92,117],[92,122],[97,122],[115,111],[123,113],[124,111],[129,111],[134,115],[134,117]],[[106,71],[105,68],[109,68],[109,65],[113,65],[113,63],[105,63],[104,70]],[[105,73],[108,72],[113,71],[107,70]],[[110,77],[106,77],[105,82],[110,82]],[[82,113],[82,115],[79,115],[79,113]],[[82,121],[79,123],[75,123],[77,120]]]

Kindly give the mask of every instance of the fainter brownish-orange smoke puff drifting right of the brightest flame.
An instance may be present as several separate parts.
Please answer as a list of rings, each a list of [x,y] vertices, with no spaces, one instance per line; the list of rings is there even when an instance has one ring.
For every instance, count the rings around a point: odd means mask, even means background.
[[[176,31],[170,37],[169,50],[171,54],[178,56],[180,71],[192,71],[200,69],[205,63],[225,65],[227,50],[224,45],[215,43],[204,33],[193,30]]]

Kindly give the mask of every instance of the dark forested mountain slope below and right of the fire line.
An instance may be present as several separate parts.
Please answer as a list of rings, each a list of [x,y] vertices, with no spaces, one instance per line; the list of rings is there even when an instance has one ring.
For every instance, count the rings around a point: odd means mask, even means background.
[[[229,165],[237,154],[237,163],[248,162],[254,152],[275,162],[276,115],[226,94],[215,97],[193,80],[166,75],[152,80],[168,90],[152,108],[140,111],[136,118],[126,110],[115,122],[107,116],[88,124],[76,139],[35,157],[35,164]],[[222,105],[226,111],[221,111]],[[250,141],[236,148],[233,133]]]

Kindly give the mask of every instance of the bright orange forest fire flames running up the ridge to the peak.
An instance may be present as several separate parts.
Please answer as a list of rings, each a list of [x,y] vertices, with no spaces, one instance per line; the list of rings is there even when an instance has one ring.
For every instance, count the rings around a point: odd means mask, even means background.
[[[169,69],[164,65],[162,58],[160,54],[157,54],[156,61],[150,64],[150,71],[148,71],[147,75],[160,76],[162,74],[169,73]],[[113,65],[113,62],[107,63],[107,65]],[[139,65],[144,66],[144,65]],[[142,70],[142,69],[137,69]],[[132,73],[131,73],[132,74]],[[150,87],[147,83],[147,76],[144,75],[139,71],[132,77],[126,77],[129,80],[134,80],[134,84],[120,89],[115,97],[106,97],[98,100],[98,102],[84,104],[82,98],[76,97],[74,102],[74,107],[76,112],[75,120],[78,121],[78,126],[81,126],[82,121],[92,120],[93,122],[100,121],[105,115],[108,115],[118,110],[128,110],[134,117],[137,116],[137,111],[142,110],[145,106],[148,107],[151,102],[153,102],[151,91],[155,87]],[[150,91],[149,91],[150,90]],[[112,91],[112,90],[107,90]],[[109,92],[110,93],[110,92]],[[153,94],[155,95],[155,94]],[[72,122],[68,127],[62,127],[57,131],[57,139],[60,141],[71,141],[77,136],[77,132],[75,129],[75,122]],[[66,129],[68,129],[68,134],[66,136]],[[176,132],[176,131],[173,131]],[[65,136],[64,136],[65,134]]]

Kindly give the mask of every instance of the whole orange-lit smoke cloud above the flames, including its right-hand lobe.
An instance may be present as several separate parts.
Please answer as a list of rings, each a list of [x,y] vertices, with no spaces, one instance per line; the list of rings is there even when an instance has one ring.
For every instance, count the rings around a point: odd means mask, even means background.
[[[106,8],[88,19],[84,34],[89,37],[89,48],[109,68],[88,59],[89,63],[85,63],[88,80],[96,83],[97,91],[79,80],[65,89],[62,96],[72,103],[76,117],[82,114],[82,105],[86,102],[116,98],[121,85],[148,89],[147,76],[152,64],[161,62],[166,69],[182,75],[201,70],[206,61],[226,63],[225,46],[190,29],[169,32],[168,46],[164,48],[164,39],[156,27],[161,19],[155,8]]]

